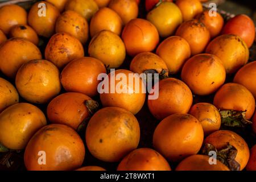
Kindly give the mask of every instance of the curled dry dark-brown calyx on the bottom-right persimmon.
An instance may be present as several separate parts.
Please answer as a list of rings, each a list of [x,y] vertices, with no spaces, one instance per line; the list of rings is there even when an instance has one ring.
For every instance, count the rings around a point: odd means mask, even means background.
[[[212,144],[205,143],[201,154],[209,156],[209,152],[214,151],[217,154],[217,159],[225,164],[231,171],[240,171],[240,164],[236,161],[237,149],[229,143],[217,150]]]

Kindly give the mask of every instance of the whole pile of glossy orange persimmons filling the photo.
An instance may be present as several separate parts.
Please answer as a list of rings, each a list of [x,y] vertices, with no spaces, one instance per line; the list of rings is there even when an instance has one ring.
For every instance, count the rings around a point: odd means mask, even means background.
[[[256,170],[255,26],[202,2],[1,7],[0,151],[27,170]],[[159,97],[99,93],[113,68],[158,73]]]

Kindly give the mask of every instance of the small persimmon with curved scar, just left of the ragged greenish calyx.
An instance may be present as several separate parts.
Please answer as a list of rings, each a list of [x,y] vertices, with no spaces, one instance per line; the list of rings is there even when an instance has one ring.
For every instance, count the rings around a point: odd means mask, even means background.
[[[221,116],[214,105],[209,103],[197,103],[191,107],[189,114],[193,115],[201,122],[204,136],[220,130]]]

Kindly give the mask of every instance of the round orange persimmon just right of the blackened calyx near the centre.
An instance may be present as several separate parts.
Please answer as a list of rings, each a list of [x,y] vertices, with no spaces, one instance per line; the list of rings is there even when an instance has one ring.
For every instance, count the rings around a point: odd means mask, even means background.
[[[181,78],[193,93],[207,96],[224,84],[226,71],[217,56],[200,54],[193,56],[184,64]]]

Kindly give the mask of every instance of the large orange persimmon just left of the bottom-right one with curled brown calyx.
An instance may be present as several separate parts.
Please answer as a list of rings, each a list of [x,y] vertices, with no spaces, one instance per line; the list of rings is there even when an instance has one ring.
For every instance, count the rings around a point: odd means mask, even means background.
[[[153,145],[170,162],[179,162],[199,152],[204,140],[201,123],[189,114],[173,114],[156,127]]]

